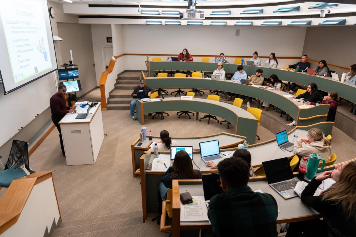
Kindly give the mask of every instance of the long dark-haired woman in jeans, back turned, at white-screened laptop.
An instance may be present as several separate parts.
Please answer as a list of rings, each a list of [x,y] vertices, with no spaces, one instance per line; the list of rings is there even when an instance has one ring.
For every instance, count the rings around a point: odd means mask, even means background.
[[[173,179],[201,179],[201,172],[193,169],[193,163],[186,151],[180,150],[174,156],[173,166],[170,166],[158,183],[159,193],[167,199],[167,190],[172,188]]]

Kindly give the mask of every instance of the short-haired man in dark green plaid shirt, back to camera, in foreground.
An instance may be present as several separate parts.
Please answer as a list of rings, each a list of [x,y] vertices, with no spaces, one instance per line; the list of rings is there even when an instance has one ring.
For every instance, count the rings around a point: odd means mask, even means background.
[[[225,193],[213,196],[208,210],[215,236],[277,236],[277,202],[248,187],[246,161],[231,157],[220,161],[218,170]]]

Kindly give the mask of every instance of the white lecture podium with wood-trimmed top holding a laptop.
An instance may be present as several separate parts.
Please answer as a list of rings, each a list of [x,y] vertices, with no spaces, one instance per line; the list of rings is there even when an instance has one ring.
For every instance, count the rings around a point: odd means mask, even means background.
[[[75,119],[77,113],[67,113],[61,125],[67,165],[95,164],[104,140],[101,102],[90,108],[85,119]]]

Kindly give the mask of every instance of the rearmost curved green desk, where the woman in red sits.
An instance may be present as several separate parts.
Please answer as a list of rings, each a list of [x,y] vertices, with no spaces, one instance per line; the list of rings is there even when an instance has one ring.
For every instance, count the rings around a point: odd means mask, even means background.
[[[227,73],[235,73],[238,64],[224,64],[223,68]],[[216,63],[203,63],[203,62],[153,62],[150,61],[148,65],[149,74],[153,77],[153,70],[190,70],[190,71],[214,71],[216,70]],[[263,70],[262,76],[268,77],[276,74],[280,80],[294,82],[297,84],[305,85],[314,82],[318,85],[318,89],[322,91],[336,91],[341,98],[347,99],[356,103],[356,85],[350,82],[341,82],[331,79],[330,77],[312,76],[306,73],[293,72],[277,68],[264,68],[261,66],[248,66],[244,65],[244,71],[247,75],[254,75],[256,69]],[[163,88],[163,87],[162,87]],[[201,87],[196,87],[201,88]],[[356,107],[355,107],[356,108]],[[294,117],[293,117],[294,118]]]

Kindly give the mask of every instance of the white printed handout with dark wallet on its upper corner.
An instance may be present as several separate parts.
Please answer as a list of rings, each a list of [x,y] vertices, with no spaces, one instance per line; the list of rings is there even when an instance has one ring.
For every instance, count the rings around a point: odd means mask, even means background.
[[[180,221],[209,221],[204,196],[192,196],[193,203],[180,202]]]

